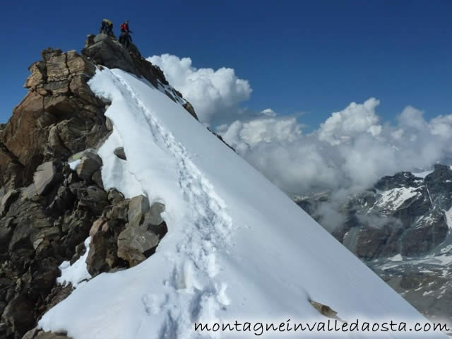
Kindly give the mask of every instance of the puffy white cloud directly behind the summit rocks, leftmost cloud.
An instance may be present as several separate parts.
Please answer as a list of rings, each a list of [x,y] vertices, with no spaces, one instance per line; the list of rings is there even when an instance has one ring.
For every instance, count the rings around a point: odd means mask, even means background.
[[[164,71],[167,81],[194,106],[198,118],[206,124],[231,121],[241,112],[239,104],[249,99],[251,86],[239,79],[234,69],[196,69],[190,58],[162,54],[148,61]]]

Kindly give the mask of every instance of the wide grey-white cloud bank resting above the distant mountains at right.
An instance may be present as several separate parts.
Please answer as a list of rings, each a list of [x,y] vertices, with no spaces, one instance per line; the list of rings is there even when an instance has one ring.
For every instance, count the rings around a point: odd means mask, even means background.
[[[378,105],[374,98],[352,102],[309,134],[297,119],[278,114],[234,121],[218,132],[287,194],[355,193],[384,175],[428,168],[451,154],[452,114],[427,121],[406,107],[396,124],[381,124]]]

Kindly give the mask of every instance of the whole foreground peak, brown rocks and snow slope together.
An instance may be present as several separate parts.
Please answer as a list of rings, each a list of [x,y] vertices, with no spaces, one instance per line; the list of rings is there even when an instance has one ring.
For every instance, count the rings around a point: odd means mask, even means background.
[[[81,54],[47,49],[30,71],[30,92],[0,135],[5,338],[212,338],[220,333],[195,323],[234,321],[427,322],[194,119],[136,47],[91,35]]]

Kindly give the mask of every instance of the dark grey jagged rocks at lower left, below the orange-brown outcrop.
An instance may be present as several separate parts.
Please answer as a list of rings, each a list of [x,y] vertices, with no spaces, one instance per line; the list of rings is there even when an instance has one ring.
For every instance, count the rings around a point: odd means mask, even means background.
[[[34,183],[9,195],[16,198],[7,199],[10,206],[0,219],[2,338],[21,338],[54,299],[70,292],[57,286],[59,264],[79,256],[77,246],[103,211],[95,206],[108,204],[105,191],[97,187],[103,195],[90,195],[93,187],[66,163],[53,160],[38,169]]]

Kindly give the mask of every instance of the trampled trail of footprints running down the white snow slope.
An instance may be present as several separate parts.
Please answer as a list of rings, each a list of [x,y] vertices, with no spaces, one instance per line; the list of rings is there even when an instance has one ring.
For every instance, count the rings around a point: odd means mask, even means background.
[[[160,328],[160,338],[173,336],[189,338],[192,334],[191,326],[194,319],[206,318],[205,320],[212,321],[215,311],[229,302],[225,295],[227,285],[213,278],[220,270],[215,251],[218,246],[227,244],[232,229],[232,218],[227,213],[225,202],[215,193],[210,182],[190,160],[190,155],[184,146],[175,140],[172,133],[165,131],[160,121],[133,93],[130,85],[119,74],[114,73],[114,76],[120,83],[119,87],[125,88],[128,96],[136,103],[136,107],[141,109],[155,141],[163,141],[167,150],[177,159],[179,186],[184,200],[187,206],[196,208],[187,224],[196,227],[197,232],[193,232],[191,227],[184,228],[184,238],[188,241],[177,245],[177,252],[183,260],[177,262],[172,277],[165,281],[169,292],[164,297],[148,294],[143,295],[142,298],[148,314],[166,313],[166,321]],[[138,175],[133,172],[131,174],[136,176],[138,182],[142,182]],[[145,187],[143,191],[147,193]],[[212,227],[206,227],[206,225]],[[184,304],[185,307],[172,307],[172,305]],[[184,314],[187,312],[191,314]],[[184,332],[186,332],[185,335]]]

